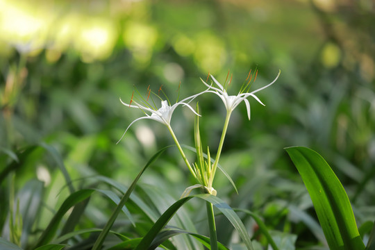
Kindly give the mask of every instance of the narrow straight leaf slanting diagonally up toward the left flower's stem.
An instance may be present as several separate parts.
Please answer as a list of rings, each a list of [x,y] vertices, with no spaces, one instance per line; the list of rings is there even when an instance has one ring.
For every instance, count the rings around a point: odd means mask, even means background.
[[[140,176],[142,176],[144,170],[146,170],[147,167],[149,167],[156,159],[158,159],[159,156],[169,147],[172,147],[172,146],[164,147],[163,149],[160,149],[156,154],[154,154],[151,157],[151,159],[147,162],[147,164],[142,168],[138,176],[135,177],[133,183],[131,183],[131,186],[128,188],[128,190],[122,197],[121,201],[119,201],[119,204],[117,205],[116,209],[113,211],[112,215],[110,216],[110,219],[108,219],[106,226],[104,226],[103,231],[101,231],[99,237],[97,238],[97,241],[94,243],[94,246],[92,247],[92,250],[101,249],[101,245],[106,239],[106,236],[108,235],[108,232],[110,231],[110,228],[112,227],[113,223],[115,223],[115,219],[117,218],[117,215],[119,215],[120,211],[122,210],[122,207],[124,206],[128,198],[130,197],[131,192],[133,192],[135,185],[140,179]]]

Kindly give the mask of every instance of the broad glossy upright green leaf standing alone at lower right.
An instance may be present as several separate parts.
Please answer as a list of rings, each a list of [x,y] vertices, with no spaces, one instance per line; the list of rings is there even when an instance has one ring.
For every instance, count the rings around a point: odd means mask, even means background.
[[[306,147],[285,150],[301,174],[330,249],[365,249],[347,193],[324,158]]]

